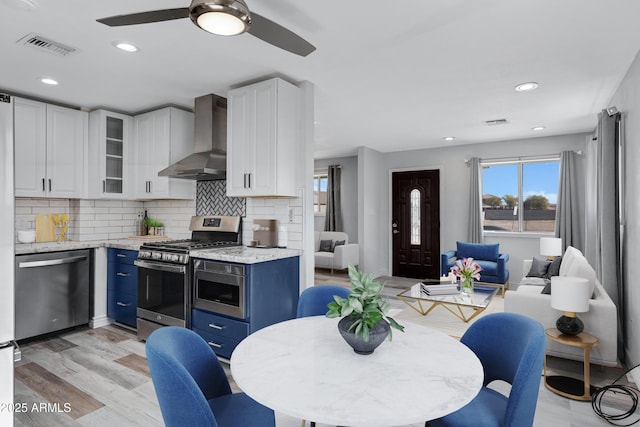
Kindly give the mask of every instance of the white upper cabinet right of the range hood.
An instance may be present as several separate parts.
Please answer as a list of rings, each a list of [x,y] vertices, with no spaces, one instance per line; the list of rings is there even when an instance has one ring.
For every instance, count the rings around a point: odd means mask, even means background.
[[[275,78],[229,91],[227,195],[294,197],[299,89]]]

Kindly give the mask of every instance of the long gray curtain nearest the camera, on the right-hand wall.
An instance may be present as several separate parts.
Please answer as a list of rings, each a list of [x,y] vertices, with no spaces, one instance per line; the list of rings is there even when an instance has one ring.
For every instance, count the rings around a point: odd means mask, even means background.
[[[609,116],[607,111],[603,110],[598,115],[595,146],[588,148],[588,153],[593,157],[589,159],[588,171],[595,173],[595,178],[588,180],[588,183],[595,188],[587,188],[587,193],[595,193],[596,207],[592,210],[587,209],[587,242],[594,245],[588,248],[587,259],[594,266],[598,279],[618,308],[618,357],[624,360],[626,322],[621,250],[621,119],[620,113]]]

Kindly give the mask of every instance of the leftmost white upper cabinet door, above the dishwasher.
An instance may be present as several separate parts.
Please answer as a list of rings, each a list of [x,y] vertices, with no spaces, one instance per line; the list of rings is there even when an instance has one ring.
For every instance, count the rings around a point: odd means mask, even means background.
[[[15,194],[43,197],[47,178],[47,105],[15,98],[14,111]]]

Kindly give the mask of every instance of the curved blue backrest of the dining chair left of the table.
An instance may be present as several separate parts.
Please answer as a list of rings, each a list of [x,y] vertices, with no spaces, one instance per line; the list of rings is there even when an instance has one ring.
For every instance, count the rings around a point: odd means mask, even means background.
[[[186,328],[162,327],[147,339],[146,354],[165,425],[217,427],[207,400],[231,394],[231,387],[202,337]]]

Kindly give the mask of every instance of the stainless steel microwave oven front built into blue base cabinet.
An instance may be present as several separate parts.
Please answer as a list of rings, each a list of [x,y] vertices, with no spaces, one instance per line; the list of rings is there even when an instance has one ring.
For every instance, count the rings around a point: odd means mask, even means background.
[[[194,307],[245,319],[244,266],[197,260],[193,275]]]

